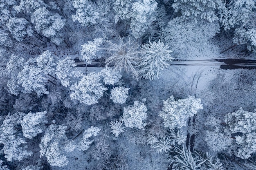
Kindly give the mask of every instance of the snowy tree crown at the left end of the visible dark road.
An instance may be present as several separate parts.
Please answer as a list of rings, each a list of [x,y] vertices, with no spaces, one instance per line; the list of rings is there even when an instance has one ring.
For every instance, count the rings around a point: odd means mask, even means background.
[[[56,66],[55,75],[61,81],[61,84],[65,87],[70,86],[73,77],[79,77],[79,71],[75,71],[76,66],[74,60],[70,57],[66,57],[63,60],[59,60]]]

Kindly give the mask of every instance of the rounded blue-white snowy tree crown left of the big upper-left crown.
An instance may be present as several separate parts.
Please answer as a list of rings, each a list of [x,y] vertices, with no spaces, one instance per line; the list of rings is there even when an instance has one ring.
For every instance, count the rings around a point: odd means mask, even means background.
[[[32,36],[33,30],[31,26],[27,26],[28,21],[25,18],[10,18],[6,24],[13,38],[22,41],[26,35]]]

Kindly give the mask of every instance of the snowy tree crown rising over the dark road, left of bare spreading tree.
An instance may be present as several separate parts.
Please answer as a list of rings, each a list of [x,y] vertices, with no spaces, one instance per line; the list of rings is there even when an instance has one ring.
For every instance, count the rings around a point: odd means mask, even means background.
[[[82,45],[81,61],[87,62],[88,64],[92,63],[92,60],[97,59],[97,51],[100,50],[99,46],[103,43],[103,38],[94,38],[93,41],[88,41]]]

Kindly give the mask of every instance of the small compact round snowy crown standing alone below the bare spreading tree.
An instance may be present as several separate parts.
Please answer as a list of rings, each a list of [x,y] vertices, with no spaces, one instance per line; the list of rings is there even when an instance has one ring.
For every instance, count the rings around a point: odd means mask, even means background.
[[[112,99],[114,103],[124,104],[128,97],[128,91],[129,88],[115,87],[111,90],[110,99]]]

